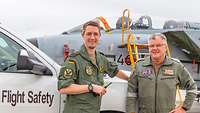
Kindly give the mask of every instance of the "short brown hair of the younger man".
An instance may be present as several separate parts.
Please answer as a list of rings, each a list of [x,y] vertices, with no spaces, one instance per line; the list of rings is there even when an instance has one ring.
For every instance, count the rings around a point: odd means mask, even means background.
[[[99,30],[99,34],[101,35],[101,32],[100,32],[101,27],[100,27],[99,23],[96,22],[96,21],[88,21],[85,24],[83,24],[83,28],[82,28],[82,31],[81,31],[82,36],[85,34],[85,30],[86,30],[87,26],[97,27],[98,30]]]

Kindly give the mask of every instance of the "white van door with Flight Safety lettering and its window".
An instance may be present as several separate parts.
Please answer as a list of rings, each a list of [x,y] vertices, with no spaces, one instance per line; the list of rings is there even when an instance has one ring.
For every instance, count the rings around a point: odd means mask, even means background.
[[[52,72],[36,75],[32,70],[17,70],[17,58],[21,49],[27,48],[0,32],[1,112],[59,113],[60,95],[56,76]],[[30,57],[43,64],[31,51],[29,53]]]

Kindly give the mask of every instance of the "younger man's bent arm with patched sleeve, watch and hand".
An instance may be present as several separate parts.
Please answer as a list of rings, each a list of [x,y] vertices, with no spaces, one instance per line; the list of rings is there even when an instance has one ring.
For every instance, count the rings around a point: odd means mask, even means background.
[[[60,69],[58,77],[58,91],[61,94],[81,94],[88,93],[89,84],[76,84],[78,67],[75,60],[67,59],[64,66]],[[92,84],[92,92],[98,95],[104,95],[106,89],[103,86]]]

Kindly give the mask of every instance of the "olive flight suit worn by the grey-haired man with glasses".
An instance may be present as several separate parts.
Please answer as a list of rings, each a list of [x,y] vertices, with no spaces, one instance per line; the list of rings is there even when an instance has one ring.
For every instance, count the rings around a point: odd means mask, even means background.
[[[175,108],[176,86],[186,89],[183,107],[190,109],[196,97],[197,86],[190,73],[177,59],[165,57],[155,74],[150,57],[139,60],[128,81],[127,113],[169,113]]]

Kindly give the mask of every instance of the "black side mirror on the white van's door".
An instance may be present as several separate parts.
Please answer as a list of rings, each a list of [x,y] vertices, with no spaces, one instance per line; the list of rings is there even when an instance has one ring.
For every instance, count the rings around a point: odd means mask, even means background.
[[[37,60],[32,54],[29,56],[28,52],[21,49],[17,58],[17,70],[29,70],[37,75],[52,75],[52,72],[43,63]]]

